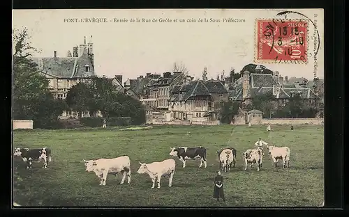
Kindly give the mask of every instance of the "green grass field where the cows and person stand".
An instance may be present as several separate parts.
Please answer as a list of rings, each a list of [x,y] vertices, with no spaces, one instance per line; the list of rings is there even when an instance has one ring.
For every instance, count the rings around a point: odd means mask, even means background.
[[[149,130],[64,129],[14,131],[14,147],[51,147],[52,162],[47,170],[34,163],[27,170],[21,159],[14,161],[14,201],[22,206],[98,207],[283,207],[317,206],[324,192],[324,129],[321,126],[162,126]],[[244,171],[242,152],[253,148],[258,138],[291,149],[290,168],[273,168],[265,154],[260,172]],[[186,168],[176,159],[173,185],[161,179],[161,188],[151,189],[148,175],[138,175],[138,161],[151,163],[170,158],[170,147],[207,147],[207,168],[188,161]],[[224,177],[226,202],[212,198],[212,180],[218,169],[216,151],[237,149],[237,165]],[[108,175],[99,186],[94,172],[85,172],[82,159],[131,158],[131,184],[120,185],[121,175]],[[127,179],[126,179],[127,180]]]

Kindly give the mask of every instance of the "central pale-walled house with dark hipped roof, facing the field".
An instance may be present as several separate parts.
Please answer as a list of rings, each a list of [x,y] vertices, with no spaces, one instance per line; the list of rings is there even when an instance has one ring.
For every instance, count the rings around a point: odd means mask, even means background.
[[[191,81],[174,86],[169,101],[170,120],[217,120],[228,90],[221,81]]]

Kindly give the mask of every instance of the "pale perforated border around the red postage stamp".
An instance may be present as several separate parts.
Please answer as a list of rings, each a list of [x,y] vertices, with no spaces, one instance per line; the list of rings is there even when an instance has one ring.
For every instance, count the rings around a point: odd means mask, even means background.
[[[307,56],[306,61],[281,61],[280,63],[278,61],[272,61],[272,60],[258,60],[258,21],[271,21],[273,19],[276,20],[288,20],[288,21],[294,21],[294,22],[299,22],[299,21],[304,21],[306,22],[306,51],[309,51],[309,22],[306,19],[281,19],[281,18],[255,18],[255,54],[253,61],[255,63],[276,63],[276,64],[308,64],[309,63],[309,56]]]

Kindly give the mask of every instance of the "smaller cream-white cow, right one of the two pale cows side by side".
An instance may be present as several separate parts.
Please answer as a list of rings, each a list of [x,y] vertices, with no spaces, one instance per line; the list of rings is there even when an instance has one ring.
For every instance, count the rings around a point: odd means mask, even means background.
[[[140,163],[140,162],[139,162]],[[140,168],[137,173],[148,174],[153,182],[151,188],[155,187],[155,179],[158,179],[158,188],[160,188],[161,177],[169,177],[168,186],[172,186],[174,170],[176,169],[176,161],[167,159],[161,162],[140,163]]]

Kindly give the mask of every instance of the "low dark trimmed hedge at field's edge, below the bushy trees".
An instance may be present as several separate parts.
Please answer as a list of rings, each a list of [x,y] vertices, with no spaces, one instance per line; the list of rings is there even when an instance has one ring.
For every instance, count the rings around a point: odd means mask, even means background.
[[[88,118],[80,118],[80,124],[84,127],[102,127],[103,119],[101,117],[88,117]],[[105,120],[107,122],[107,126],[128,126],[131,125],[132,119],[131,117],[117,117],[117,118],[107,118]]]

